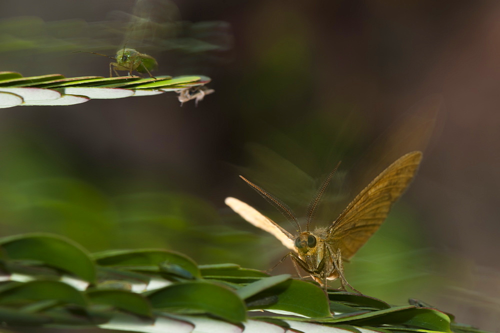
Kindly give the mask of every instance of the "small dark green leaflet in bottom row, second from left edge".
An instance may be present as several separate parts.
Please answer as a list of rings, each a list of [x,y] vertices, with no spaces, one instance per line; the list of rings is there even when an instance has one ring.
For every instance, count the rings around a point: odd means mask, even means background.
[[[121,310],[150,317],[151,305],[142,295],[125,290],[88,290],[88,298],[93,303],[112,305]]]

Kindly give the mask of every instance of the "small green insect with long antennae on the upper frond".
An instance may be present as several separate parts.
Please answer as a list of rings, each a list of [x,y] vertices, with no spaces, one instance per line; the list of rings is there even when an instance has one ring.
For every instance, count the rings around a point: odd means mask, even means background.
[[[132,76],[132,71],[136,71],[138,73],[147,73],[149,77],[153,77],[151,75],[151,71],[158,68],[158,63],[156,60],[143,53],[139,53],[134,49],[121,49],[116,52],[116,56],[109,57],[100,53],[89,52],[89,51],[76,51],[76,52],[84,52],[91,53],[94,55],[104,56],[109,59],[113,59],[116,62],[109,63],[109,77],[112,77],[112,72],[118,75],[118,71],[127,71],[129,76]],[[112,72],[111,72],[112,71]]]

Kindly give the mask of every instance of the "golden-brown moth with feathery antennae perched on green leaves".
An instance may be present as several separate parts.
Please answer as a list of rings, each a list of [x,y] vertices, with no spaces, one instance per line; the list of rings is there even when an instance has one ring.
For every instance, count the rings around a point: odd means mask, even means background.
[[[338,164],[323,181],[309,203],[305,230],[302,230],[295,214],[284,203],[240,176],[295,225],[295,235],[238,199],[228,197],[225,203],[243,219],[269,232],[291,250],[278,264],[289,256],[297,272],[298,266],[321,286],[326,288],[326,280],[340,278],[344,290],[348,286],[360,293],[345,279],[342,262],[348,261],[380,227],[392,204],[413,179],[421,159],[422,153],[419,151],[401,156],[376,176],[347,205],[336,220],[328,226],[318,226],[314,230],[311,230],[312,219]]]

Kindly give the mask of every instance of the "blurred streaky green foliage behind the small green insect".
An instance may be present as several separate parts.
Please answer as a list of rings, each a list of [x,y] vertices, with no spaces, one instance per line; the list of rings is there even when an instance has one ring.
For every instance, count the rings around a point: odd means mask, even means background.
[[[163,58],[164,64],[170,65],[163,66],[163,71],[170,72],[164,74],[181,75],[196,70],[206,72],[209,66],[225,62],[223,54],[232,47],[228,23],[181,21],[177,6],[169,0],[136,0],[131,11],[129,14],[113,10],[101,22],[44,21],[29,16],[0,18],[0,63],[23,64],[26,72],[30,67],[26,58],[29,55],[36,56],[37,64],[57,59],[59,72],[64,72],[64,66],[78,67],[85,62],[84,56],[71,52],[93,51],[114,57],[117,50],[126,46],[155,58],[167,57]],[[9,66],[1,70],[7,69],[22,68]]]

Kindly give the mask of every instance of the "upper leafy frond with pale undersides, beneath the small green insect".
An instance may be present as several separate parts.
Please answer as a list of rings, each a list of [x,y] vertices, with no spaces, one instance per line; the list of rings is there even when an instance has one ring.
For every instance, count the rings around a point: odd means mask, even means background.
[[[73,105],[90,99],[114,99],[130,96],[158,95],[176,92],[181,103],[202,100],[213,92],[205,76],[126,76],[104,78],[85,76],[65,78],[60,74],[22,77],[16,72],[0,72],[0,108],[17,105]]]

